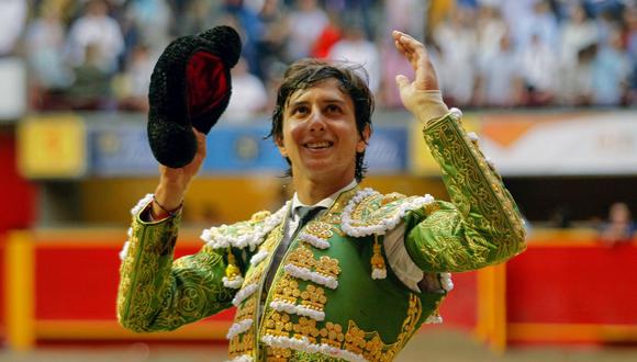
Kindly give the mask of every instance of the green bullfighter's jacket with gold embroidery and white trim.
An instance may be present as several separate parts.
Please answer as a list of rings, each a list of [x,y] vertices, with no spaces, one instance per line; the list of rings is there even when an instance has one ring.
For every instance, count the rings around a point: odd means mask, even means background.
[[[232,361],[393,360],[423,323],[439,319],[449,272],[525,249],[515,203],[460,116],[451,111],[424,128],[450,203],[346,191],[290,242],[269,290],[265,275],[290,203],[206,229],[198,253],[174,261],[179,216],[143,222],[150,199],[143,200],[123,252],[120,323],[134,331],[172,330],[236,306],[227,333]],[[428,281],[421,293],[398,279],[384,254],[384,235],[400,223],[407,253]]]

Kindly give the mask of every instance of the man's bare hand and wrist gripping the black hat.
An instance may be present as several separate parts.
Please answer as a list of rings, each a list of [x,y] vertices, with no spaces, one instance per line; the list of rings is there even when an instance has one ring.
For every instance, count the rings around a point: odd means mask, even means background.
[[[169,168],[159,165],[159,185],[155,190],[153,202],[153,218],[168,216],[167,211],[177,211],[183,202],[186,191],[194,176],[199,172],[205,158],[205,134],[192,128],[197,138],[197,154],[190,163],[181,168]],[[159,205],[161,206],[159,206]]]

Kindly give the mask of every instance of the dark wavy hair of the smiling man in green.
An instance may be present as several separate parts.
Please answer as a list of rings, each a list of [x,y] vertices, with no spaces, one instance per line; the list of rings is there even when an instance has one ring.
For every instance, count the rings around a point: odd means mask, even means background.
[[[371,131],[371,114],[373,113],[375,101],[373,94],[367,86],[367,80],[361,78],[359,72],[367,78],[367,72],[361,66],[350,64],[327,63],[316,59],[301,59],[288,67],[283,73],[281,86],[277,93],[277,104],[272,112],[272,128],[270,134],[266,137],[277,138],[283,137],[283,113],[290,95],[298,90],[304,90],[314,87],[315,84],[327,80],[336,79],[339,83],[339,89],[349,94],[354,102],[356,128],[361,138],[367,125]],[[360,182],[367,172],[365,165],[365,150],[356,152],[356,181]],[[290,159],[286,157],[288,165]],[[292,176],[292,169],[288,169],[287,176]]]

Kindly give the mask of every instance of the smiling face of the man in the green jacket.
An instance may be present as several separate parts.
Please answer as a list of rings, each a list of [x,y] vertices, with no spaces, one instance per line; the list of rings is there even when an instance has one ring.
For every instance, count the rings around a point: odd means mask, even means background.
[[[356,152],[365,150],[369,126],[364,138],[356,128],[354,102],[327,79],[292,93],[283,112],[279,151],[292,163],[295,179],[331,182],[350,181],[356,169]]]

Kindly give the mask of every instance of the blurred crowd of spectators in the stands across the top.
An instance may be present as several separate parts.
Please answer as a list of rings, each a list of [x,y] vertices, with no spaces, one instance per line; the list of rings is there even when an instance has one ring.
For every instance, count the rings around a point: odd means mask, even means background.
[[[166,45],[217,24],[244,41],[237,118],[303,57],[360,63],[378,105],[400,106],[393,29],[427,44],[450,105],[637,105],[637,0],[2,0],[0,56],[27,64],[32,109],[143,112]]]

